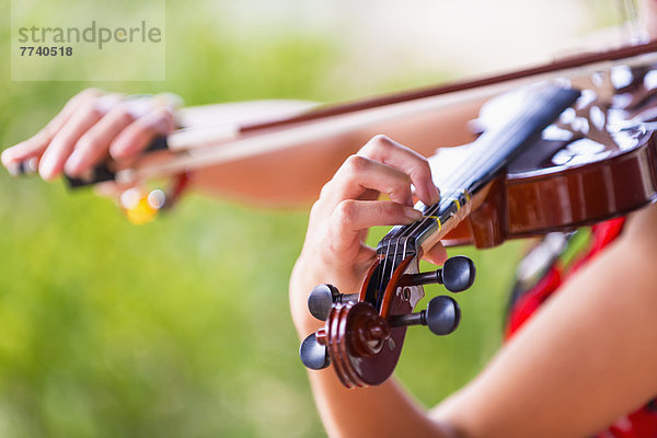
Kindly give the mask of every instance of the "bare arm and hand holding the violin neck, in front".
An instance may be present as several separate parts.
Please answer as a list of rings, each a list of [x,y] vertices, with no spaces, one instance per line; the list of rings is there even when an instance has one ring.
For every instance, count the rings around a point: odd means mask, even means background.
[[[395,153],[365,151],[374,160]],[[413,174],[408,166],[423,164],[401,166]],[[333,283],[353,291],[362,279],[372,255],[358,240],[364,229],[405,223],[389,205],[355,204],[364,194],[341,188],[348,182],[376,189],[368,185],[374,181],[370,172],[394,186],[380,168],[347,163],[313,207],[290,280],[300,337],[319,325],[306,310],[313,286]],[[396,199],[403,204],[403,197]],[[374,208],[378,214],[371,215]],[[641,406],[657,394],[657,270],[650,268],[657,260],[656,223],[657,207],[637,212],[618,243],[574,276],[472,383],[430,414],[394,381],[345,390],[333,370],[310,371],[326,429],[332,436],[579,437]]]

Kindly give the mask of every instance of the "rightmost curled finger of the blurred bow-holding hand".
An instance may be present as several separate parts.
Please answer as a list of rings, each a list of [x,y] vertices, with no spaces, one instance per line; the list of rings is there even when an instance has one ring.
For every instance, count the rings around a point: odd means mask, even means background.
[[[145,150],[158,136],[166,135],[175,128],[173,114],[166,108],[137,118],[126,127],[110,146],[110,154],[115,160],[123,160]]]

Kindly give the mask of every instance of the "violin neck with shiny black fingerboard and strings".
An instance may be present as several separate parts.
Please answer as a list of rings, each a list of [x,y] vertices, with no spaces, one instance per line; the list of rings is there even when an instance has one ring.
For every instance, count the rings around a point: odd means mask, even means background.
[[[379,243],[380,252],[389,253],[392,244],[406,253],[403,255],[433,246],[468,216],[473,197],[579,96],[577,90],[555,85],[522,92],[527,93],[522,106],[512,111],[504,124],[486,130],[463,165],[445,178],[437,178],[440,203],[433,206],[418,203],[415,208],[424,211],[425,217],[393,228]]]

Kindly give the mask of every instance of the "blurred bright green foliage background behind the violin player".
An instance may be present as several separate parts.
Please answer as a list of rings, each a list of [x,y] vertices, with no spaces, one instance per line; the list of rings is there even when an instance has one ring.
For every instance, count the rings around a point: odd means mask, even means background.
[[[344,45],[293,28],[262,37],[231,26],[222,4],[168,2],[165,82],[11,82],[9,62],[0,64],[0,147],[35,132],[85,87],[172,91],[188,105],[337,101],[458,73],[417,66],[371,81],[336,73]],[[0,436],[323,436],[287,298],[307,219],[303,210],[191,195],[135,227],[91,192],[0,171]],[[462,326],[446,338],[412,330],[397,368],[427,406],[497,348],[520,244],[457,253],[479,269],[460,297]]]

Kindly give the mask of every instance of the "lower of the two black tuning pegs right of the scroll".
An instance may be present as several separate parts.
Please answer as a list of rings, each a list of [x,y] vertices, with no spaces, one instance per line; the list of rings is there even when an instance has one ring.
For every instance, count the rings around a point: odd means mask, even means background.
[[[418,313],[395,315],[390,325],[400,327],[408,325],[427,325],[435,335],[449,335],[461,322],[461,308],[448,296],[439,296],[429,301],[427,310]]]

